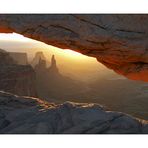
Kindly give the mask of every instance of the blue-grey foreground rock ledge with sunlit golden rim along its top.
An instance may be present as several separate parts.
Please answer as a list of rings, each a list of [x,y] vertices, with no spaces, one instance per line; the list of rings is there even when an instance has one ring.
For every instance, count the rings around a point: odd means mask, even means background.
[[[99,104],[54,104],[0,92],[0,134],[148,133],[148,123]]]

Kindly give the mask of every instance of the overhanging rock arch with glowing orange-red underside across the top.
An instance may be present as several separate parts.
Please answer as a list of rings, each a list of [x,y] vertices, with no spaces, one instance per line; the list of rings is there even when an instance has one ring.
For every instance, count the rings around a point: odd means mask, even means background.
[[[96,57],[119,74],[148,82],[148,15],[1,14],[0,32]]]

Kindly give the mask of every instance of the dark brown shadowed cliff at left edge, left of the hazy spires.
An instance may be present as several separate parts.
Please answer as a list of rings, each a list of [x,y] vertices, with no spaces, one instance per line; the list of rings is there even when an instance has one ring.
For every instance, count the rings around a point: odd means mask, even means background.
[[[7,52],[0,52],[0,90],[37,96],[34,70],[30,65],[17,65]]]

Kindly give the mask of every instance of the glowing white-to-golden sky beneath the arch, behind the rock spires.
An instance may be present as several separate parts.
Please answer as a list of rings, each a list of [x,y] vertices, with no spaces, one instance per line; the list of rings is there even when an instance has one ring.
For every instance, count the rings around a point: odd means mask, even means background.
[[[16,33],[0,33],[0,48],[10,52],[27,52],[31,60],[37,51],[43,51],[50,61],[54,54],[61,73],[80,80],[95,80],[113,74],[95,58],[82,55],[70,49],[60,49],[43,42],[26,38]]]

